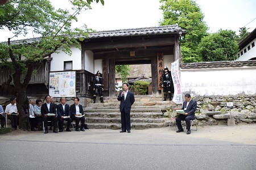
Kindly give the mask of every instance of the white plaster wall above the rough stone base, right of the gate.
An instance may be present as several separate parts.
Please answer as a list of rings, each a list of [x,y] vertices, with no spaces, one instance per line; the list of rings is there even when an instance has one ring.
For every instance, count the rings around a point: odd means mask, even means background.
[[[256,67],[180,70],[181,91],[193,96],[256,95]]]

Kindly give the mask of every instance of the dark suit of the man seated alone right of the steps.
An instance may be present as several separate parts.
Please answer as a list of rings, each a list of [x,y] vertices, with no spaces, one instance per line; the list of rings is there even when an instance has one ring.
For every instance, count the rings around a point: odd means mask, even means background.
[[[196,101],[192,100],[189,102],[187,106],[187,101],[183,102],[183,107],[182,109],[184,110],[185,113],[188,113],[187,116],[184,114],[180,114],[179,116],[176,117],[176,124],[178,129],[183,129],[181,125],[181,121],[185,120],[186,122],[186,129],[190,130],[190,125],[191,125],[191,120],[195,119],[195,112],[196,112]]]

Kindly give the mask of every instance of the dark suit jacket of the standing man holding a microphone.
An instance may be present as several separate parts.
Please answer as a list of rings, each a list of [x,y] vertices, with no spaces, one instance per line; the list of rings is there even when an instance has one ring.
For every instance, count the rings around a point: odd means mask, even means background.
[[[130,91],[127,92],[126,98],[125,95],[121,96],[122,92],[119,93],[117,100],[121,101],[120,103],[120,112],[125,109],[125,113],[131,113],[131,105],[133,105],[135,99],[134,94]]]

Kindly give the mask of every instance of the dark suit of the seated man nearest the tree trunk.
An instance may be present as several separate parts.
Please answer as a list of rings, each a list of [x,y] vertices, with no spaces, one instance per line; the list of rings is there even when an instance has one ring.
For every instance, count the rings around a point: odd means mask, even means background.
[[[57,105],[54,103],[50,104],[49,110],[47,108],[47,103],[42,104],[41,114],[44,121],[44,128],[46,128],[46,130],[48,130],[48,121],[53,121],[53,130],[55,130],[57,127],[57,116],[44,116],[45,114],[48,114],[48,113],[56,114],[56,108],[57,108]]]

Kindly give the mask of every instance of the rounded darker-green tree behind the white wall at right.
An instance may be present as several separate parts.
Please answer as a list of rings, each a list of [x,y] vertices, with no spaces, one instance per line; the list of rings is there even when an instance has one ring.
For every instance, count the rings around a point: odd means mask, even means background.
[[[237,59],[236,32],[220,29],[217,33],[203,37],[198,52],[203,61],[233,61]]]

